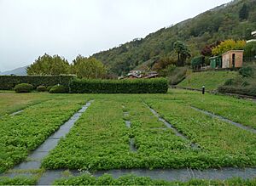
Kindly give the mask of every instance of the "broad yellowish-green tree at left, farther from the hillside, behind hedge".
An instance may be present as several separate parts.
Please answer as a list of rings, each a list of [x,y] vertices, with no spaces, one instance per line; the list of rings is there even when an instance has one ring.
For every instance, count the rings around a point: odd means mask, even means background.
[[[60,57],[59,55],[50,56],[44,54],[39,56],[35,62],[26,68],[27,75],[52,75],[58,76],[61,74],[68,74],[70,66],[67,59]]]

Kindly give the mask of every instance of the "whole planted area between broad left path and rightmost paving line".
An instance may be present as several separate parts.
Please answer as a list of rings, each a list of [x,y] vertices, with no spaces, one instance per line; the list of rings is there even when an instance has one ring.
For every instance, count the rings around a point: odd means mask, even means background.
[[[141,98],[188,140],[158,121]],[[131,128],[124,120],[131,121]],[[131,138],[136,152],[129,148]],[[199,148],[191,148],[191,142]],[[183,101],[115,96],[96,99],[43,166],[83,170],[255,166],[255,149],[253,133],[206,116]]]

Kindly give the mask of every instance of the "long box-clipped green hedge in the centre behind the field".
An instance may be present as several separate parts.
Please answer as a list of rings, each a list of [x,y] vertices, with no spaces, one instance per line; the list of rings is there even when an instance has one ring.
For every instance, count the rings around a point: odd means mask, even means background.
[[[74,79],[69,84],[71,93],[166,93],[165,78],[132,80]]]

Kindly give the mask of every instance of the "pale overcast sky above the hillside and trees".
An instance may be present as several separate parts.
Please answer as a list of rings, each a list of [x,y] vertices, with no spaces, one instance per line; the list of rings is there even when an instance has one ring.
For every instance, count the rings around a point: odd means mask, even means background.
[[[70,63],[230,0],[0,0],[0,71],[59,54]]]

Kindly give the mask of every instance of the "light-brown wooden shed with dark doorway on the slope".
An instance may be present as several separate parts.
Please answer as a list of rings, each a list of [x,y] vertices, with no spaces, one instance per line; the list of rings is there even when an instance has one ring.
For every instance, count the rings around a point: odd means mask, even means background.
[[[243,50],[230,50],[222,54],[222,68],[242,67]]]

